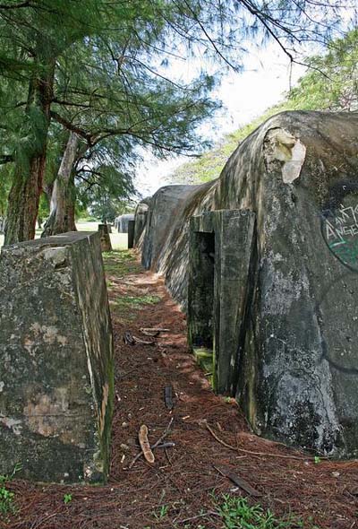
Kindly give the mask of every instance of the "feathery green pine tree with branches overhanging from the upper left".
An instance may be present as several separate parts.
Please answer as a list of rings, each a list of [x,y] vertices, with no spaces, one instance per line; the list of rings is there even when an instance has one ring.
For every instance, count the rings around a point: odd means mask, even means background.
[[[102,145],[111,137],[129,165],[143,147],[161,156],[200,152],[198,126],[217,107],[210,61],[239,70],[252,38],[274,39],[294,60],[301,43],[329,37],[341,9],[323,0],[3,0],[0,174],[12,183],[6,244],[34,236],[41,189],[55,181],[70,132],[80,138],[73,170],[82,176],[80,160],[90,167],[86,157],[108,152]],[[201,71],[171,78],[165,66],[173,72],[187,57],[198,64],[201,57]],[[123,170],[111,174],[124,178]]]

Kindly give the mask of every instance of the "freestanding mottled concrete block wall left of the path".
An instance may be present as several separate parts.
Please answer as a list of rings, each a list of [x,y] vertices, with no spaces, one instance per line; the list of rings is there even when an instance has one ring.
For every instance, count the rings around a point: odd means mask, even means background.
[[[113,340],[98,233],[2,249],[0,473],[105,481]]]

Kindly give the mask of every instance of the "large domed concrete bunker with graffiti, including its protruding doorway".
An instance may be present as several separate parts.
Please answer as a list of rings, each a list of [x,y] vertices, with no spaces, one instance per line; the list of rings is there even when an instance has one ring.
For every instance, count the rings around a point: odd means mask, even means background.
[[[259,435],[338,457],[358,454],[357,130],[354,113],[271,117],[217,180],[159,189],[141,246],[192,345],[212,333],[217,393]],[[215,234],[212,330],[193,232]]]

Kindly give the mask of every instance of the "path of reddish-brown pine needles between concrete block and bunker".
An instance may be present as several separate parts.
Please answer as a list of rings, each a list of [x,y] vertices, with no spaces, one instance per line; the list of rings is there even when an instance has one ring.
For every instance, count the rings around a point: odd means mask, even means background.
[[[115,252],[107,257],[107,282],[116,359],[110,481],[106,487],[13,481],[10,488],[19,510],[0,527],[234,529],[243,526],[229,525],[241,497],[247,498],[247,506],[259,501],[277,518],[291,516],[286,525],[275,525],[268,516],[266,525],[261,517],[261,525],[247,527],[358,527],[357,462],[315,462],[312,456],[251,435],[237,404],[214,395],[194,363],[185,318],[162,280],[142,271],[131,253]],[[152,345],[124,344],[126,331],[150,341],[141,334],[142,327],[169,332],[160,333]],[[173,388],[172,411],[164,399],[166,386]],[[148,426],[153,444],[170,421],[165,442],[175,446],[157,449],[154,464],[141,457],[129,468],[139,453],[141,424]],[[251,485],[258,498],[216,467],[229,469],[246,482],[244,487]],[[67,504],[64,494],[71,495]]]

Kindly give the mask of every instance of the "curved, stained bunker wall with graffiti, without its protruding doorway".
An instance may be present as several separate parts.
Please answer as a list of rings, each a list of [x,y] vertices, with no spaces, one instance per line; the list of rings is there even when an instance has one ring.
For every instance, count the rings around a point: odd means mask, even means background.
[[[187,192],[156,258],[144,259],[185,306],[188,218],[255,213],[237,399],[256,432],[335,455],[358,454],[357,133],[354,114],[270,118],[199,201]]]

